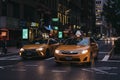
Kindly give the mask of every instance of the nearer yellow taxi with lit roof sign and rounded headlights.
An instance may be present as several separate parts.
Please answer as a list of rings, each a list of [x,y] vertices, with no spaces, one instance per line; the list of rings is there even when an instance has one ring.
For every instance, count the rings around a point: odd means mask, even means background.
[[[90,37],[69,38],[55,49],[56,63],[91,63],[98,57],[98,44]]]

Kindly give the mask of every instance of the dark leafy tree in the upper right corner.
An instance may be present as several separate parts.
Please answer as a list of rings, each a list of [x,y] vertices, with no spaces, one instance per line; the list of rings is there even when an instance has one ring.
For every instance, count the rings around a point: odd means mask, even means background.
[[[120,34],[120,0],[107,0],[103,5],[102,15],[105,17],[106,22],[112,25],[116,29],[117,33]]]

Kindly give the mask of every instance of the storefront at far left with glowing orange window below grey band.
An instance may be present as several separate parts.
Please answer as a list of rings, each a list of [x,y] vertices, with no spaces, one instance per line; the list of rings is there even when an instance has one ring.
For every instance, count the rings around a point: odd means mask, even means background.
[[[18,22],[16,18],[0,17],[0,40],[6,39],[8,46],[16,45],[16,39],[21,35]]]

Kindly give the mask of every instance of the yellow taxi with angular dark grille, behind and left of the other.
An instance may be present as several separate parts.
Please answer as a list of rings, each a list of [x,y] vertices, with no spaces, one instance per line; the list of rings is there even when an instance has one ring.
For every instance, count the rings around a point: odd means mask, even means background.
[[[19,55],[23,59],[33,57],[49,57],[53,55],[57,46],[59,46],[58,41],[52,38],[34,40],[31,43],[24,45],[20,49]]]

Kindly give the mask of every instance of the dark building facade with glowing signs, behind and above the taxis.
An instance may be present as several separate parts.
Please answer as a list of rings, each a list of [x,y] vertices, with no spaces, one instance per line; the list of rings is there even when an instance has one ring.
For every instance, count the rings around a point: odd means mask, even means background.
[[[49,33],[57,37],[59,31],[63,37],[78,29],[93,31],[93,3],[95,0],[0,0],[0,40],[4,37],[14,44],[19,38],[34,40]]]

